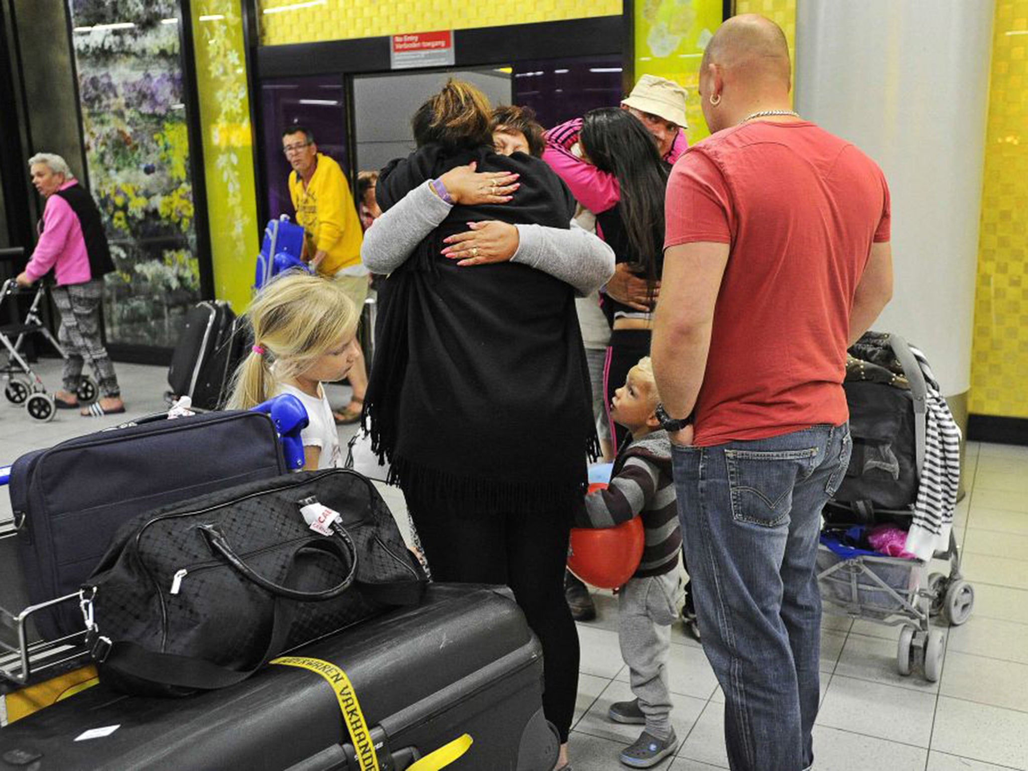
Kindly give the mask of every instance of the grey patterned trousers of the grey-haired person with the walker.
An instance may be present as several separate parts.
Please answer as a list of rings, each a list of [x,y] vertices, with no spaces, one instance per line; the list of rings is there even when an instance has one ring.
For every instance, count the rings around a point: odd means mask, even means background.
[[[74,394],[82,379],[82,364],[88,358],[100,380],[100,393],[105,397],[120,396],[114,365],[100,339],[100,301],[104,294],[103,281],[53,287],[50,296],[61,313],[58,339],[68,358],[65,359],[64,390]]]

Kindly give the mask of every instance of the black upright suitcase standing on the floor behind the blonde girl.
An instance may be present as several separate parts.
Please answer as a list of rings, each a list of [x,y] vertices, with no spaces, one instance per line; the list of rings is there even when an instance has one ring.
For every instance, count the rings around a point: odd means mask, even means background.
[[[188,396],[199,409],[222,408],[247,341],[246,324],[227,302],[205,301],[191,307],[168,370],[171,394]]]

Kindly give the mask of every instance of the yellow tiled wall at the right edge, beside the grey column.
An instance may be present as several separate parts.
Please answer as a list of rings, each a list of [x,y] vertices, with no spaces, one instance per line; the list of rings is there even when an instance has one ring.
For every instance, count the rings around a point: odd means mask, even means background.
[[[997,0],[970,411],[1028,417],[1028,0]]]

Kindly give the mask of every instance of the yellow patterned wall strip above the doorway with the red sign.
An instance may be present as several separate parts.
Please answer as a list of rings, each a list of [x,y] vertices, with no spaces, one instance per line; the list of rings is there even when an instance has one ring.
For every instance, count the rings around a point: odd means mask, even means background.
[[[264,45],[558,22],[622,12],[621,0],[258,0],[257,5]]]

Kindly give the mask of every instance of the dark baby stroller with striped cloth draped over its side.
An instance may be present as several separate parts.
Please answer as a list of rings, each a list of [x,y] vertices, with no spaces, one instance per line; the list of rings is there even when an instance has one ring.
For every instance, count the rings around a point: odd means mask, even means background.
[[[919,664],[933,683],[946,637],[931,619],[963,624],[975,603],[951,527],[959,430],[927,362],[903,338],[869,332],[850,353],[844,388],[853,452],[823,512],[817,554],[821,598],[828,613],[902,625],[900,673],[910,674]],[[868,531],[880,534],[887,525],[893,536],[894,528],[906,531],[901,552],[906,556],[869,548]],[[932,557],[949,560],[949,575],[927,575]]]

